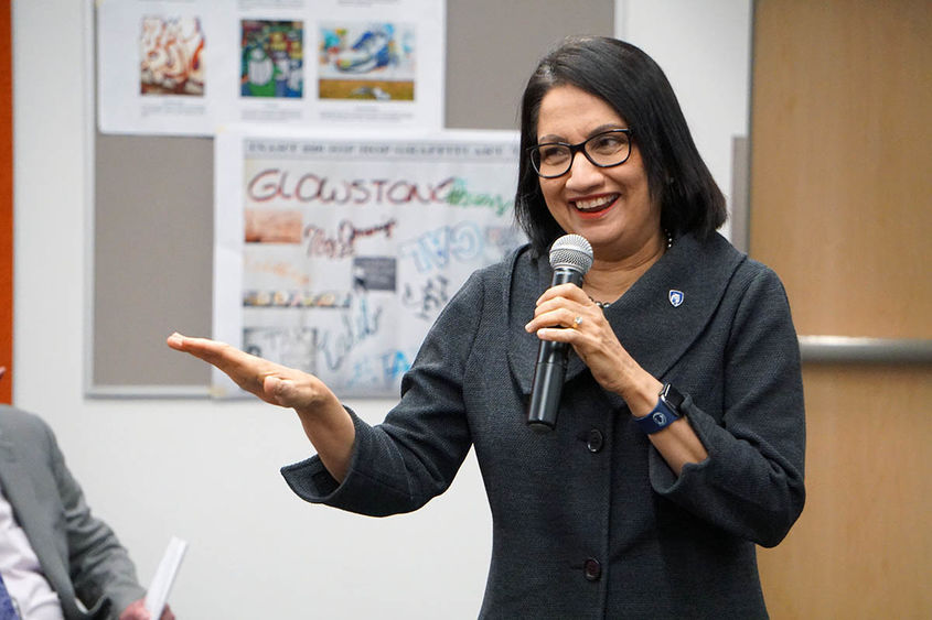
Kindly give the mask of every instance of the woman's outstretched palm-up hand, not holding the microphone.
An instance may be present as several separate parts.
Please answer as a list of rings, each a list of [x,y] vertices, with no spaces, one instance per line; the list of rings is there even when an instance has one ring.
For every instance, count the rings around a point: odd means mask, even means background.
[[[328,398],[330,390],[307,372],[249,355],[210,338],[190,338],[172,334],[172,349],[190,353],[215,366],[243,390],[279,406],[308,411]]]

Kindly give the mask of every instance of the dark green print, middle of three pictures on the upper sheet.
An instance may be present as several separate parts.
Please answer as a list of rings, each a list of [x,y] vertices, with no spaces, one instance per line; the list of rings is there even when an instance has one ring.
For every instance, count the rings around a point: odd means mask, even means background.
[[[243,20],[239,94],[300,99],[304,95],[304,22]]]

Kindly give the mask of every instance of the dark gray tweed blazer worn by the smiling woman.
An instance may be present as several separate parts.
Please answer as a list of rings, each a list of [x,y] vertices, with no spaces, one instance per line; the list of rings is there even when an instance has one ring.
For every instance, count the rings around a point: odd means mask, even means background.
[[[549,282],[526,247],[473,274],[399,404],[376,426],[353,416],[343,483],[317,457],[286,480],[310,502],[407,512],[474,446],[493,523],[481,618],[765,618],[756,544],[778,544],[805,498],[800,350],[779,279],[718,235],[685,236],[606,311],[634,359],[686,395],[709,456],[678,478],[576,356],[556,429],[527,427],[538,340],[524,325]]]

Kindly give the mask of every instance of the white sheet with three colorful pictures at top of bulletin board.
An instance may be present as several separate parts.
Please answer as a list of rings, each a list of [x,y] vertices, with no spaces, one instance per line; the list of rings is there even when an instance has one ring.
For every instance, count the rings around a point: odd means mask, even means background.
[[[443,122],[442,0],[99,0],[103,133]]]

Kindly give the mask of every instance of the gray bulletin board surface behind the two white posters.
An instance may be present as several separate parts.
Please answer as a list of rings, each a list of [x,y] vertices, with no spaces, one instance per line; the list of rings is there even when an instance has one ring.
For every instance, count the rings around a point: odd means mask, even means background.
[[[611,36],[614,1],[448,0],[446,18],[443,127],[516,130],[539,57]],[[165,338],[213,330],[214,139],[98,132],[93,148],[87,394],[208,396],[210,367]]]

